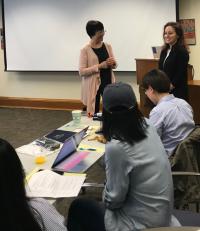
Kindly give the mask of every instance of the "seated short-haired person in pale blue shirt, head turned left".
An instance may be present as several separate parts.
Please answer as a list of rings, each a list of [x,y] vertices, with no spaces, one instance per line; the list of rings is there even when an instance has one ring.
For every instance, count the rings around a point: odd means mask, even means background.
[[[170,80],[161,70],[147,73],[142,86],[147,97],[156,105],[150,112],[150,123],[156,127],[170,156],[195,127],[192,108],[185,100],[169,93]]]

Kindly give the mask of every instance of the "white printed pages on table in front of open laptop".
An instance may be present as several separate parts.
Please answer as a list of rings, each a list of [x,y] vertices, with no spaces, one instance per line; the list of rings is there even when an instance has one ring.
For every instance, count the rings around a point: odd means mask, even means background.
[[[29,197],[76,197],[86,174],[59,175],[50,170],[34,173],[26,185]]]

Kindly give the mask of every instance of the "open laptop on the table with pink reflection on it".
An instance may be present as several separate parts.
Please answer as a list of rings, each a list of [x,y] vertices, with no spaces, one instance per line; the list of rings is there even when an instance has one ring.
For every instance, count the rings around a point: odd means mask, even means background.
[[[57,172],[82,173],[103,155],[102,153],[87,150],[77,150],[81,140],[86,135],[87,129],[88,127],[65,140],[51,167],[52,170]]]

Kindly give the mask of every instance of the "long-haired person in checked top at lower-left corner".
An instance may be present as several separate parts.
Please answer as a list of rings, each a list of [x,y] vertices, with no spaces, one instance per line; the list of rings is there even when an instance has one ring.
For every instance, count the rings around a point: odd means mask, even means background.
[[[64,217],[47,200],[26,196],[24,180],[15,149],[0,139],[1,230],[67,231]]]

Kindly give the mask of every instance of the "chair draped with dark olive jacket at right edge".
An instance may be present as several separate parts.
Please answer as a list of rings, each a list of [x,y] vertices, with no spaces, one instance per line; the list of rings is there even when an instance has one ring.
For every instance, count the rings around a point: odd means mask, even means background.
[[[200,126],[186,137],[170,157],[174,181],[174,204],[185,209],[190,203],[200,203]]]

